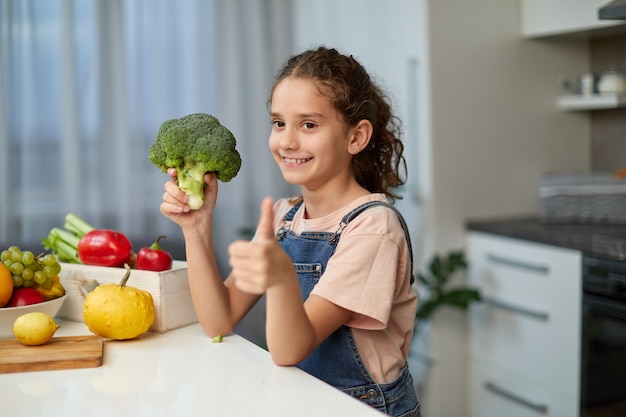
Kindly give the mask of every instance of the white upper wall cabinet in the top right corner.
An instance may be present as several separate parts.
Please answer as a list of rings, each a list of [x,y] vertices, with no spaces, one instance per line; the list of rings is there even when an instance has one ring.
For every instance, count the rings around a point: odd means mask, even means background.
[[[522,0],[521,33],[527,38],[575,34],[624,27],[620,20],[598,19],[609,0]]]

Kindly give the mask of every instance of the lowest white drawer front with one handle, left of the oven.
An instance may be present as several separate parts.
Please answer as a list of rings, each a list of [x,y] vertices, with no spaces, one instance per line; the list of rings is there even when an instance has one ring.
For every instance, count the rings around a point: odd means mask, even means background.
[[[471,417],[578,417],[578,398],[542,389],[515,374],[470,363]]]

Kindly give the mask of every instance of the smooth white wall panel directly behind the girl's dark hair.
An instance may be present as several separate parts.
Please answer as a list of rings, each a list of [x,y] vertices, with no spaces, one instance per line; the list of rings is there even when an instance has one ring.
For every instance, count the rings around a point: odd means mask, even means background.
[[[430,175],[426,0],[299,0],[294,4],[296,51],[324,44],[354,55],[388,93],[402,121],[408,180],[396,206],[407,220],[419,263],[427,243],[420,198]]]

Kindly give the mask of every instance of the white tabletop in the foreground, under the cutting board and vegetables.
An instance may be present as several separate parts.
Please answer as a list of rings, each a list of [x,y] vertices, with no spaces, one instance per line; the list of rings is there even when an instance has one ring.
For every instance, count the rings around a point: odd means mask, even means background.
[[[55,336],[91,334],[64,322]],[[232,334],[212,343],[196,323],[105,340],[97,368],[0,375],[1,415],[380,416],[375,409]]]

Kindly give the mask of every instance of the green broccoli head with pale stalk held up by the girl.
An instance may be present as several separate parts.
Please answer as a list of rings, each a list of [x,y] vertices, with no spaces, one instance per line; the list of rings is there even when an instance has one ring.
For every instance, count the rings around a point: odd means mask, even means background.
[[[161,171],[176,168],[178,186],[189,196],[189,207],[204,204],[204,175],[215,172],[228,182],[239,172],[237,141],[215,117],[195,113],[164,122],[150,146],[150,161]]]

